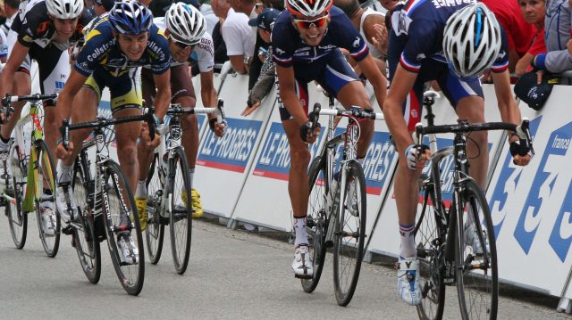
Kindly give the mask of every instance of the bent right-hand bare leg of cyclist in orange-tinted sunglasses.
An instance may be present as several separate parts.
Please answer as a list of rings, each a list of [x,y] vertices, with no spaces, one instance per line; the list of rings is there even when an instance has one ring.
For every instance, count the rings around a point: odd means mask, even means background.
[[[348,109],[351,106],[358,106],[362,110],[371,110],[372,104],[367,97],[366,89],[360,81],[351,81],[345,86],[341,87],[338,96],[338,101]],[[369,144],[374,137],[374,121],[364,121],[360,123],[361,133],[359,141],[357,141],[357,158],[364,158],[367,154]]]

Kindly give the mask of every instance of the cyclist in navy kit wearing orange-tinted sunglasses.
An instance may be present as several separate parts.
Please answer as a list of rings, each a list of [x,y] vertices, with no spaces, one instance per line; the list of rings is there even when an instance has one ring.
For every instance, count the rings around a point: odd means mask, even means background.
[[[272,31],[273,60],[279,82],[282,105],[282,126],[290,144],[290,176],[288,190],[296,232],[294,275],[312,277],[313,266],[308,254],[306,217],[309,196],[307,166],[319,127],[311,130],[307,117],[307,83],[317,81],[340,103],[371,109],[365,87],[341,53],[341,48],[364,70],[374,86],[380,104],[385,99],[385,78],[369,54],[366,41],[353,27],[349,18],[332,0],[288,0],[287,11],[280,13]],[[363,163],[374,126],[361,127],[357,144],[358,161]]]

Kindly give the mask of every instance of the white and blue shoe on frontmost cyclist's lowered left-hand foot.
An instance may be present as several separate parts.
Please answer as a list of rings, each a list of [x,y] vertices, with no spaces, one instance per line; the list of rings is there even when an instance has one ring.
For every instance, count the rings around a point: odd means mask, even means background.
[[[397,291],[400,298],[409,306],[421,303],[421,284],[419,283],[419,260],[400,258],[397,265]]]

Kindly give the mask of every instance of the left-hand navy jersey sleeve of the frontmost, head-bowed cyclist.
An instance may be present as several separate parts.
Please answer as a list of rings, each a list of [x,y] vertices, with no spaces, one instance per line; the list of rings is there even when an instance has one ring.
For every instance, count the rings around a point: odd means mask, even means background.
[[[433,55],[434,44],[442,41],[442,29],[435,21],[419,19],[411,21],[408,26],[408,41],[400,56],[400,65],[411,72],[421,70],[421,62]]]

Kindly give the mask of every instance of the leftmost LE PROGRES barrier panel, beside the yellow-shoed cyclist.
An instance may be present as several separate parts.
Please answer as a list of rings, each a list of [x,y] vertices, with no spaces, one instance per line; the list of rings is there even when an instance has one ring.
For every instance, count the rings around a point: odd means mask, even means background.
[[[223,138],[211,130],[201,136],[194,183],[207,212],[231,217],[272,110],[261,108],[248,119],[240,116],[247,105],[248,76],[227,77],[219,97],[225,101],[229,127]]]

